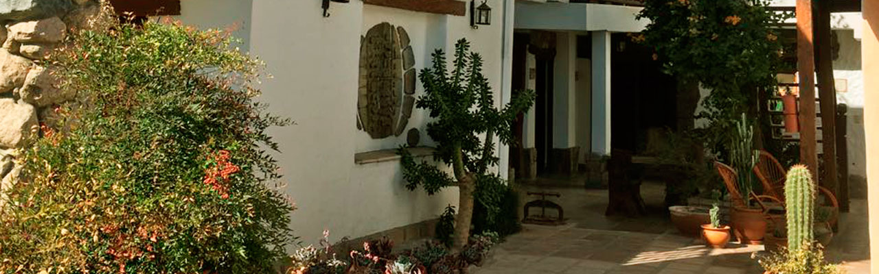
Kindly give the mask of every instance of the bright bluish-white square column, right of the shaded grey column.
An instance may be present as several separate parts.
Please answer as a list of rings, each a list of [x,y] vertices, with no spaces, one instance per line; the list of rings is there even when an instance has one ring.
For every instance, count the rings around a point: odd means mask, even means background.
[[[610,155],[610,32],[592,32],[592,153]]]

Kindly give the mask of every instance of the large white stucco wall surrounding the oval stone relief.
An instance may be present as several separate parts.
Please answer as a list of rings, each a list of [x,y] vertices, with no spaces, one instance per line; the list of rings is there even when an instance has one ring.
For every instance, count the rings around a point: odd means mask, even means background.
[[[500,104],[503,4],[490,0],[494,24],[470,28],[469,17],[435,15],[365,5],[360,1],[331,4],[323,18],[320,1],[260,0],[252,6],[250,48],[273,77],[263,81],[262,100],[270,111],[296,125],[273,128],[280,142],[276,158],[299,209],[291,227],[305,242],[316,242],[323,229],[331,240],[359,237],[436,218],[446,205],[457,204],[457,191],[428,197],[403,187],[399,162],[358,165],[354,154],[396,148],[397,138],[372,140],[356,124],[360,36],[372,25],[403,26],[411,38],[416,65],[430,64],[437,47],[452,51],[460,38],[483,54],[484,75]],[[417,84],[416,95],[423,92]],[[415,109],[407,130],[422,129],[425,112]],[[427,141],[429,143],[429,141]]]

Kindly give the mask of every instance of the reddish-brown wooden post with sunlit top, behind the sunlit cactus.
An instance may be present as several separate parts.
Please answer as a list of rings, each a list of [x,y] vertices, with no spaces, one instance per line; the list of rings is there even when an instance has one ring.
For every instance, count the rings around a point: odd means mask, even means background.
[[[796,0],[796,68],[800,74],[800,161],[817,182],[815,132],[815,48],[812,45],[812,1]]]

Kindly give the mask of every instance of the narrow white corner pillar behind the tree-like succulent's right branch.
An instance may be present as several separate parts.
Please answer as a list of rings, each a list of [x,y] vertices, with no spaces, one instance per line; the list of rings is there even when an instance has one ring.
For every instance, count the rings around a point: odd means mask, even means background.
[[[498,107],[504,107],[510,103],[512,97],[512,25],[514,24],[514,10],[516,8],[513,0],[504,0],[504,36],[501,45],[502,53],[502,69],[501,69],[501,93],[500,104]],[[495,138],[498,141],[498,138]],[[504,179],[509,178],[510,172],[510,146],[500,144],[498,141],[498,174]]]

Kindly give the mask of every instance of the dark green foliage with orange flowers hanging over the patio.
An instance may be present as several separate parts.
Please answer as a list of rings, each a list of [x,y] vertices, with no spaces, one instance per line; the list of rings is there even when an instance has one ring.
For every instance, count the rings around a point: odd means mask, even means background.
[[[638,14],[650,24],[633,40],[654,47],[665,72],[713,90],[702,104],[708,148],[724,153],[737,115],[756,104],[758,90],[775,90],[781,66],[779,33],[789,15],[768,0],[648,0]]]

